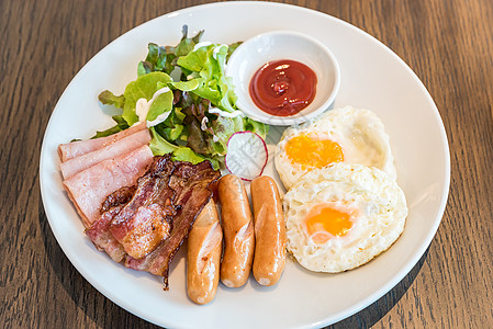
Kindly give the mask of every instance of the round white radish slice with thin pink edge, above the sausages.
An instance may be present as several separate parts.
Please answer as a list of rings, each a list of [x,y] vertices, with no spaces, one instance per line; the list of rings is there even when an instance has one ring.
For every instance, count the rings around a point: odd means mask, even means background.
[[[261,175],[268,158],[266,141],[255,133],[237,132],[227,140],[226,168],[244,181]]]

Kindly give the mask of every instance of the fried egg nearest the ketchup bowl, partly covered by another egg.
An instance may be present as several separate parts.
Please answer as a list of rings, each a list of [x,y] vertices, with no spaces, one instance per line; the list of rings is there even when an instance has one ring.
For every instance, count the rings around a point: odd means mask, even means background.
[[[276,147],[276,169],[287,189],[305,172],[333,162],[377,167],[395,180],[389,135],[369,110],[329,110],[284,131]]]

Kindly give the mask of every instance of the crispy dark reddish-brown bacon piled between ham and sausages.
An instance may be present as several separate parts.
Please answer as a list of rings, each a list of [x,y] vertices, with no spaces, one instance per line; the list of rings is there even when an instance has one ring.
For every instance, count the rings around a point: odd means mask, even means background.
[[[113,260],[164,276],[167,290],[169,264],[220,175],[209,161],[192,164],[155,157],[135,186],[108,196],[86,234]]]

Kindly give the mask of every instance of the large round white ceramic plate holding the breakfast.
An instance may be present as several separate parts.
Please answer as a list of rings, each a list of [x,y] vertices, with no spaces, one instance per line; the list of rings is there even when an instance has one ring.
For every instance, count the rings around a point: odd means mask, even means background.
[[[205,306],[187,298],[183,253],[170,271],[170,291],[161,280],[113,263],[83,235],[82,224],[61,188],[56,148],[72,138],[88,138],[111,125],[98,103],[105,89],[123,92],[136,78],[147,43],[175,45],[181,26],[205,30],[203,41],[232,43],[287,24],[327,44],[339,60],[341,84],[335,106],[373,110],[385,124],[395,156],[399,183],[410,215],[401,238],[370,263],[336,275],[287,264],[278,285],[255,280],[238,290],[220,286]],[[276,141],[279,128],[272,129]],[[267,173],[273,174],[272,161]],[[450,158],[438,111],[419,79],[389,48],[340,20],[312,10],[262,2],[227,2],[194,7],[152,20],[116,38],[74,78],[46,128],[41,155],[41,190],[53,232],[77,270],[108,298],[164,327],[179,328],[316,328],[365,308],[397,284],[429,246],[447,202]]]

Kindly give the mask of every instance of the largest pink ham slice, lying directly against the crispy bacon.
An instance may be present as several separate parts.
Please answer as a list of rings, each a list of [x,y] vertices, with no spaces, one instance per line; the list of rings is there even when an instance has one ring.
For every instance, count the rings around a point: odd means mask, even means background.
[[[153,160],[153,151],[144,145],[114,159],[103,160],[64,181],[68,196],[86,227],[99,217],[108,195],[123,186],[134,185]]]

